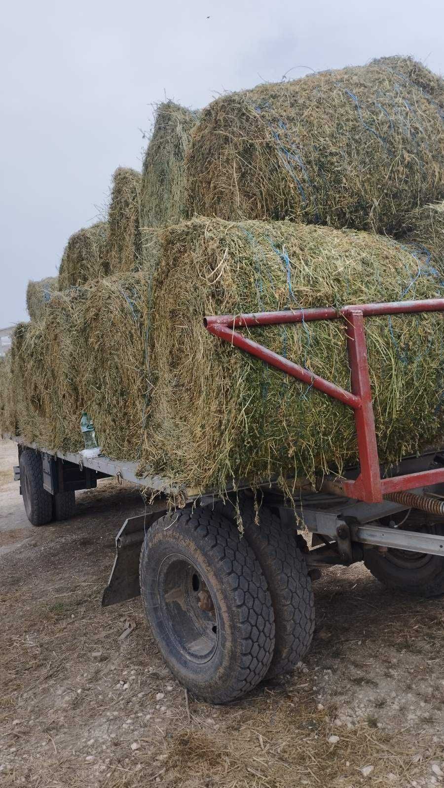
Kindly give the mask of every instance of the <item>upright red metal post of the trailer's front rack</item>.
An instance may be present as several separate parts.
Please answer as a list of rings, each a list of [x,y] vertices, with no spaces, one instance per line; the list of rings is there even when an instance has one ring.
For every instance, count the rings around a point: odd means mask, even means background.
[[[382,485],[379,473],[375,416],[371,402],[364,315],[362,310],[353,309],[347,310],[344,316],[347,322],[347,349],[349,351],[352,391],[355,396],[360,398],[361,403],[361,407],[356,408],[355,411],[360,476],[356,482],[346,482],[344,490],[347,495],[353,498],[353,485],[356,485],[355,495],[358,490],[359,492],[362,490],[364,500],[371,504],[377,504],[382,501]]]

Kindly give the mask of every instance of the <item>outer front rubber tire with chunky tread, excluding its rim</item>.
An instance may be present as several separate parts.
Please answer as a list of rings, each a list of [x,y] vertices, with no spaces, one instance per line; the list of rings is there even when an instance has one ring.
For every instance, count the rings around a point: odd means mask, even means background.
[[[169,555],[191,559],[215,603],[219,631],[206,663],[177,649],[159,608],[157,578]],[[247,541],[208,507],[160,518],[140,552],[140,593],[159,650],[173,674],[200,700],[222,704],[241,697],[267,674],[274,651],[274,614],[267,581]]]

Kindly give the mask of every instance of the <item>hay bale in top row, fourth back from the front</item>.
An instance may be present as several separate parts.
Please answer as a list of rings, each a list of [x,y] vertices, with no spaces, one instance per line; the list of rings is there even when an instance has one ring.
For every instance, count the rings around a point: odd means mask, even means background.
[[[106,259],[108,225],[98,221],[91,227],[74,232],[69,238],[58,269],[61,290],[100,279],[109,273]]]

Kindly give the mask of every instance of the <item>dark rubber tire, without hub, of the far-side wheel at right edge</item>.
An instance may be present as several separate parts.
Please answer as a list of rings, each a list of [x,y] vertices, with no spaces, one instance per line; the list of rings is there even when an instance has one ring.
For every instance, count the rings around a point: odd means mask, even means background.
[[[441,523],[434,525],[434,533],[444,536],[444,525]],[[386,585],[387,588],[426,598],[438,597],[444,593],[444,558],[442,556],[431,556],[425,566],[409,570],[390,563],[386,559],[386,553],[373,548],[364,550],[364,564],[373,577]]]

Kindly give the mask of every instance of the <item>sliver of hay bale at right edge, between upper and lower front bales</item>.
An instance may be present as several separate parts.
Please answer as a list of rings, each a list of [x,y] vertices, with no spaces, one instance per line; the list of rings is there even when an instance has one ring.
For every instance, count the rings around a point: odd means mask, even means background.
[[[444,275],[444,203],[412,210],[405,219],[409,240],[431,255],[431,262]]]

